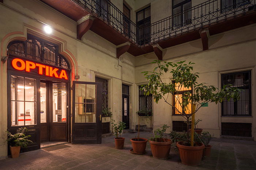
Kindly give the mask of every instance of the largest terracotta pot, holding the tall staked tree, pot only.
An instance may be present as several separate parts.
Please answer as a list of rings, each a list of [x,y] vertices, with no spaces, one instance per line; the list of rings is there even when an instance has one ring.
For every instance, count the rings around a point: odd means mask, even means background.
[[[200,165],[204,150],[203,143],[200,143],[200,146],[184,146],[181,144],[182,141],[176,143],[176,146],[179,149],[181,162],[189,166]]]

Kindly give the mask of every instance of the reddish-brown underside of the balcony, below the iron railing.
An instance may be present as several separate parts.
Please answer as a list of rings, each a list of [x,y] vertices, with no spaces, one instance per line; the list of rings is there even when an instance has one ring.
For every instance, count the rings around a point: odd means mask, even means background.
[[[215,35],[217,33],[229,31],[232,29],[244,27],[246,25],[256,23],[256,11],[247,11],[245,13],[241,13],[236,15],[236,17],[227,17],[226,19],[219,20],[217,22],[203,25],[203,27],[197,27],[195,29],[191,29],[187,32],[177,33],[176,35],[169,36],[158,41],[151,42],[146,44],[145,46],[139,46],[134,41],[129,39],[128,36],[125,36],[119,30],[117,30],[112,25],[103,21],[101,17],[98,17],[97,14],[92,12],[90,9],[85,9],[75,3],[74,1],[69,0],[41,0],[44,3],[50,5],[57,11],[63,13],[69,18],[78,21],[83,16],[88,14],[94,16],[93,24],[90,27],[90,30],[104,39],[110,41],[116,46],[120,44],[124,44],[126,42],[130,42],[131,46],[127,52],[129,52],[133,56],[139,56],[143,54],[147,54],[149,52],[153,52],[153,44],[159,44],[161,48],[168,48],[172,46],[176,46],[178,44],[182,44],[188,41],[200,39],[200,30],[208,29],[210,35]],[[203,46],[202,46],[203,49]]]

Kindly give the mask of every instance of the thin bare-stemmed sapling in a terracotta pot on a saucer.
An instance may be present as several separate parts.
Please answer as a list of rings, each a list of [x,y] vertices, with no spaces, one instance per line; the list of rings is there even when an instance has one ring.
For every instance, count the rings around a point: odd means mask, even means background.
[[[145,119],[147,119],[149,116],[148,112],[145,111],[143,116],[145,117]],[[148,140],[146,138],[140,138],[140,116],[139,116],[139,124],[138,124],[138,137],[132,138],[130,141],[132,142],[132,149],[130,150],[131,153],[140,155],[146,152],[146,146],[147,146]]]

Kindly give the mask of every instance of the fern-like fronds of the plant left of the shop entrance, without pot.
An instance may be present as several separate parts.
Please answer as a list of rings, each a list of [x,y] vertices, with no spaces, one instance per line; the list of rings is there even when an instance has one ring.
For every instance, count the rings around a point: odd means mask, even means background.
[[[11,134],[7,131],[7,142],[10,146],[21,146],[22,148],[26,148],[29,143],[33,143],[29,140],[30,135],[26,135],[27,128],[21,127],[19,128],[15,134]]]

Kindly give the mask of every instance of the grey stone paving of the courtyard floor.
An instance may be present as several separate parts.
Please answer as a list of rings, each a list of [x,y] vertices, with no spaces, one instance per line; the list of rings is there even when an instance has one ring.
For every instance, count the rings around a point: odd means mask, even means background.
[[[0,169],[37,170],[37,169],[119,169],[119,170],[150,170],[150,169],[223,169],[249,170],[256,169],[256,142],[213,138],[211,157],[204,159],[200,166],[183,165],[179,155],[173,150],[167,160],[152,157],[150,145],[147,143],[144,155],[134,155],[130,139],[136,133],[123,134],[125,148],[114,149],[114,137],[102,138],[102,144],[72,145],[70,143],[52,146],[26,153],[19,158],[0,160]],[[150,139],[152,133],[140,133],[141,137]]]

